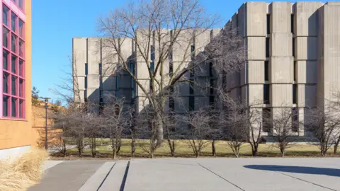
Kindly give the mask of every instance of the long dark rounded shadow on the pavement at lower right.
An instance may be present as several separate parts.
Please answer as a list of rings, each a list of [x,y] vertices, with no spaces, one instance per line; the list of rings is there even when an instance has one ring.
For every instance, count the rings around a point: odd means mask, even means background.
[[[247,165],[244,168],[254,170],[269,170],[285,173],[301,173],[312,175],[330,175],[340,177],[340,169],[336,168],[318,168],[308,166],[277,166],[277,165]]]

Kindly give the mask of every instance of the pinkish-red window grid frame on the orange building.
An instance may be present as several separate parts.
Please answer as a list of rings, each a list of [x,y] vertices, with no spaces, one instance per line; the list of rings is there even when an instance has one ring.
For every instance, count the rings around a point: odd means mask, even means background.
[[[18,1],[14,1],[17,3]],[[4,116],[3,118],[13,118],[13,119],[26,119],[26,98],[25,98],[25,92],[26,92],[26,79],[25,79],[25,22],[16,14],[13,13],[11,10],[11,7],[6,5],[6,3],[2,2],[2,6],[6,6],[8,8],[8,15],[7,15],[7,23],[8,26],[2,23],[2,29],[6,28],[9,30],[9,33],[7,34],[7,45],[8,47],[4,47],[4,43],[2,45],[3,52],[6,51],[7,54],[7,69],[4,69],[4,63],[2,64],[2,71],[3,75],[8,74],[8,80],[7,80],[7,93],[2,92],[2,99],[1,103],[4,104],[4,96],[7,97],[7,116]],[[15,21],[15,31],[12,30],[12,13],[16,16]],[[19,35],[19,20],[23,23],[22,33],[21,36]],[[1,21],[2,22],[2,21]],[[15,42],[15,50],[12,51],[12,37],[16,37]],[[19,43],[22,42],[21,47],[19,46]],[[12,71],[12,57],[15,57],[15,71]],[[3,59],[4,60],[4,59]],[[22,65],[20,65],[22,63]],[[12,78],[15,77],[15,95],[12,95]],[[3,76],[4,78],[4,76]],[[21,84],[20,81],[23,81]],[[3,84],[1,84],[3,86]],[[12,104],[12,100],[15,99],[14,105]],[[2,105],[1,110],[4,110],[4,105]],[[12,111],[15,110],[15,115],[12,115]]]

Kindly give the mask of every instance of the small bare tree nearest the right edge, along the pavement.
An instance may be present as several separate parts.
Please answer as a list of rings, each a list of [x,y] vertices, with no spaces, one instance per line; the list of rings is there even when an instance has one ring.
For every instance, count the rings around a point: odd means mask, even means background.
[[[319,141],[318,146],[322,156],[326,156],[327,151],[339,137],[340,120],[338,114],[339,112],[336,112],[329,105],[325,105],[324,108],[308,109],[304,125]]]

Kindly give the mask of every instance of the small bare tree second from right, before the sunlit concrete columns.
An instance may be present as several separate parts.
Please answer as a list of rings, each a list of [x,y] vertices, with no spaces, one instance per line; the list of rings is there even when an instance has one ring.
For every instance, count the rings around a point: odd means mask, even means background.
[[[298,132],[299,121],[296,108],[281,105],[273,110],[273,116],[266,118],[272,124],[272,136],[276,141],[276,148],[280,149],[280,156],[285,156],[285,150],[293,146],[292,136]]]

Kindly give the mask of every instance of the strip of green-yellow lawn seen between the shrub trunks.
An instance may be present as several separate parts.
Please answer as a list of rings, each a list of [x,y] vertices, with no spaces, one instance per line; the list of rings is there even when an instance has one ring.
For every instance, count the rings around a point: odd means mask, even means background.
[[[109,147],[108,139],[98,139],[97,146],[97,157],[99,158],[111,158],[112,150]],[[123,139],[122,146],[120,148],[120,154],[118,154],[118,158],[130,158],[131,154],[131,140]],[[148,140],[138,140],[137,144],[148,145]],[[227,146],[226,141],[216,141],[215,142],[217,156],[219,157],[232,157],[232,149]],[[332,154],[333,149],[329,150],[329,156],[338,156]],[[176,141],[176,156],[175,157],[194,157],[193,151],[191,147],[189,147],[185,141]],[[68,154],[70,156],[77,156],[77,149],[69,149]],[[208,144],[203,149],[201,157],[208,157],[212,155],[211,144]],[[91,157],[91,149],[84,149],[85,157]],[[147,157],[147,152],[143,151],[140,146],[136,146],[136,154],[135,157]],[[162,146],[157,149],[154,154],[154,157],[169,157],[170,149],[166,141],[162,144]],[[249,144],[244,144],[240,151],[240,157],[251,156],[251,146]],[[280,156],[280,151],[273,144],[260,144],[259,145],[259,156]],[[320,156],[319,149],[316,145],[312,144],[294,144],[289,149],[287,149],[285,156]]]

